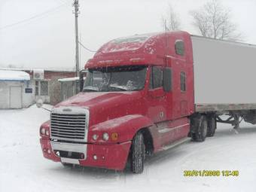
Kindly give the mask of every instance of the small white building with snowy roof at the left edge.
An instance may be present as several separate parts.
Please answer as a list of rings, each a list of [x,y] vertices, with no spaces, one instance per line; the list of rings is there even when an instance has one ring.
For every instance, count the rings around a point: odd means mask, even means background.
[[[0,108],[26,108],[34,102],[28,73],[0,70]]]

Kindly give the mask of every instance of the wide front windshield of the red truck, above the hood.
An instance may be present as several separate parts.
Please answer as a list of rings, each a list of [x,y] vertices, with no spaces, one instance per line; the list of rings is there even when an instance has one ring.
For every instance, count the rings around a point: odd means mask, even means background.
[[[142,90],[145,86],[146,66],[118,66],[89,69],[84,92]]]

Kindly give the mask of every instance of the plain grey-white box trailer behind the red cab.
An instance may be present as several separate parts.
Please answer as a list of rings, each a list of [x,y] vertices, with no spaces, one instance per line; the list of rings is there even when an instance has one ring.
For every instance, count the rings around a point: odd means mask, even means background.
[[[231,123],[236,128],[242,119],[255,124],[256,45],[197,35],[191,39],[195,111],[208,115],[212,124]],[[223,120],[221,114],[229,117]]]

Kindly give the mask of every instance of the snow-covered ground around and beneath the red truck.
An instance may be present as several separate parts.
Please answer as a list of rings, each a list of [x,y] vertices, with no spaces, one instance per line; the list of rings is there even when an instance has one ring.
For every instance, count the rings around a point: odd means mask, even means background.
[[[49,106],[48,106],[49,107]],[[239,134],[218,125],[206,142],[187,142],[154,155],[141,175],[96,168],[63,168],[44,159],[38,128],[49,112],[33,105],[0,110],[0,191],[255,191],[256,126]],[[184,170],[239,170],[238,177],[184,177]]]

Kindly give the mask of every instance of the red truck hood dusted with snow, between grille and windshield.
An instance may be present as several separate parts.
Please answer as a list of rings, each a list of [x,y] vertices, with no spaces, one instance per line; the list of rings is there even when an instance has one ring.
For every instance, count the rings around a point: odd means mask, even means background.
[[[127,114],[145,114],[145,99],[142,91],[123,91],[111,93],[79,93],[54,108],[78,106],[89,108],[90,126],[105,120]]]

